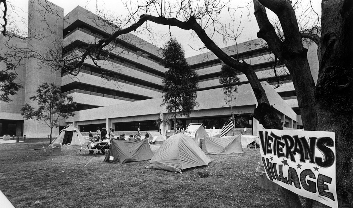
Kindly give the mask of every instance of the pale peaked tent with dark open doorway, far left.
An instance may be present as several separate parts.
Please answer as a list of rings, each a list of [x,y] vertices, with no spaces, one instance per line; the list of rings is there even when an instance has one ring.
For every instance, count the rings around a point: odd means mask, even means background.
[[[85,143],[85,138],[77,127],[68,124],[60,131],[49,146],[52,146],[54,142],[59,142],[61,145],[70,143],[70,146],[81,146]]]

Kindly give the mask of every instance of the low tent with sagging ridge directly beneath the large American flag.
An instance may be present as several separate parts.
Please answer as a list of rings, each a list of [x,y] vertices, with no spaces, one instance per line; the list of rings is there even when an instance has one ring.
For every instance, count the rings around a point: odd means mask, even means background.
[[[244,153],[241,147],[241,135],[223,138],[205,136],[202,140],[202,151],[205,154]]]

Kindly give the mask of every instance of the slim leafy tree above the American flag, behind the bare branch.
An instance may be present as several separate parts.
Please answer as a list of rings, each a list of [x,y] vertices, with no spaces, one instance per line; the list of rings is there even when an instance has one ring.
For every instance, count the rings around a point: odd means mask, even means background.
[[[233,99],[236,99],[234,93],[238,92],[237,86],[240,86],[239,77],[237,77],[237,71],[232,67],[223,64],[221,68],[220,84],[223,85],[222,89],[223,94],[226,95],[226,104],[229,105],[231,111],[233,112],[232,101]]]

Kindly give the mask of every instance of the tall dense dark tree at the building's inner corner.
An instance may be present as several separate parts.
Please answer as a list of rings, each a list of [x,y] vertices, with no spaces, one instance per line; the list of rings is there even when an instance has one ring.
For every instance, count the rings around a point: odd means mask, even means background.
[[[162,65],[168,69],[166,78],[162,81],[163,103],[168,112],[174,115],[174,131],[177,129],[177,111],[180,116],[189,117],[196,102],[198,88],[198,78],[187,64],[185,53],[181,45],[175,40],[170,39],[162,51],[164,60]]]

